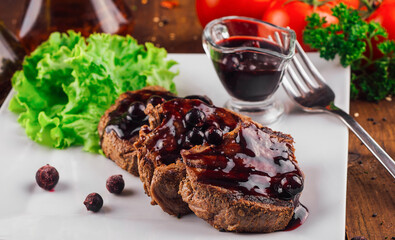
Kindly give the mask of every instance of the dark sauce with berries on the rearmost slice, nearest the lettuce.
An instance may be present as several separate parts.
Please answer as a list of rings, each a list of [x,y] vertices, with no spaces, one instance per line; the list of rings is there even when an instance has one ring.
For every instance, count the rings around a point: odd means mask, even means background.
[[[109,114],[105,128],[107,133],[114,131],[121,139],[137,136],[141,126],[148,124],[144,109],[148,103],[153,105],[175,98],[170,92],[140,90],[127,92],[127,97]]]

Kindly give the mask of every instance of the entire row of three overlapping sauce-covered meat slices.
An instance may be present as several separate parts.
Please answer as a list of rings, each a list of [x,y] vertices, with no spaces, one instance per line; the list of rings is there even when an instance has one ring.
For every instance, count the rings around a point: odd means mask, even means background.
[[[273,232],[303,223],[304,175],[291,136],[161,87],[122,94],[98,126],[106,156],[139,176],[151,204],[193,211],[219,230]]]

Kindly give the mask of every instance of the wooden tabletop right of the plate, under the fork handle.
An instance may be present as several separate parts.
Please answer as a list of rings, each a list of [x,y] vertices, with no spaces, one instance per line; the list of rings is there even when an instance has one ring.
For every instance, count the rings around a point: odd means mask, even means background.
[[[350,113],[359,114],[355,119],[394,158],[395,102],[352,101]],[[365,236],[369,240],[395,237],[395,180],[352,132],[346,212],[349,239],[355,236]]]

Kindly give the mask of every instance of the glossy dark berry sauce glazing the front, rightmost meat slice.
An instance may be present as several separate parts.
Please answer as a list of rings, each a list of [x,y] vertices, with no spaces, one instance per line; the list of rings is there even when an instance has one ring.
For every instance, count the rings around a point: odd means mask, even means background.
[[[291,160],[291,143],[279,142],[255,124],[242,123],[236,135],[219,146],[182,154],[202,183],[284,200],[303,190],[302,172]]]

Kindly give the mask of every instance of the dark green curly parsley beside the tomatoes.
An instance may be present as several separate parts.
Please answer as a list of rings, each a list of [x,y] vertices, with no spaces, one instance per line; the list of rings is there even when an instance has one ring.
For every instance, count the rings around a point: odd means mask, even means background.
[[[395,42],[385,39],[377,44],[382,57],[375,58],[374,42],[387,38],[386,30],[376,22],[366,22],[357,10],[339,4],[332,9],[339,22],[327,25],[325,18],[313,13],[307,17],[303,33],[306,44],[318,49],[320,56],[351,66],[351,97],[379,101],[395,94]]]

